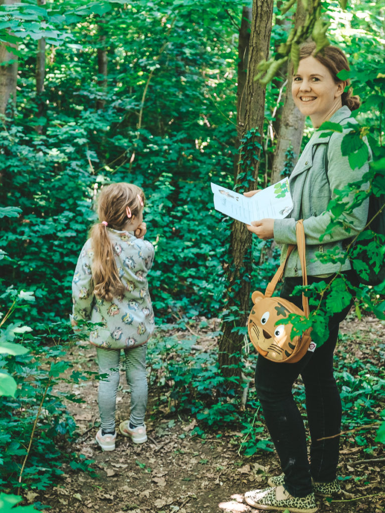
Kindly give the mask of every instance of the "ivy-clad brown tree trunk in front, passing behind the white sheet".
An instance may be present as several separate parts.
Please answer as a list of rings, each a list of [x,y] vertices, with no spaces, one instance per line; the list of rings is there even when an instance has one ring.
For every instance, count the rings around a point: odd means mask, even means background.
[[[255,81],[257,65],[267,60],[270,36],[272,31],[273,0],[254,0],[253,16],[249,43],[249,58],[247,66],[247,80],[245,89],[245,113],[242,139],[247,144],[241,148],[241,159],[236,179],[237,190],[256,189],[258,182],[259,157],[261,153],[265,86]],[[248,175],[252,175],[252,179]],[[246,325],[249,313],[250,276],[252,270],[251,260],[251,233],[246,225],[235,221],[230,236],[230,254],[228,262],[227,279],[227,308],[230,317],[235,319],[224,320],[222,337],[219,341],[219,364],[224,376],[240,376],[240,350],[242,348],[242,333],[234,328]]]

